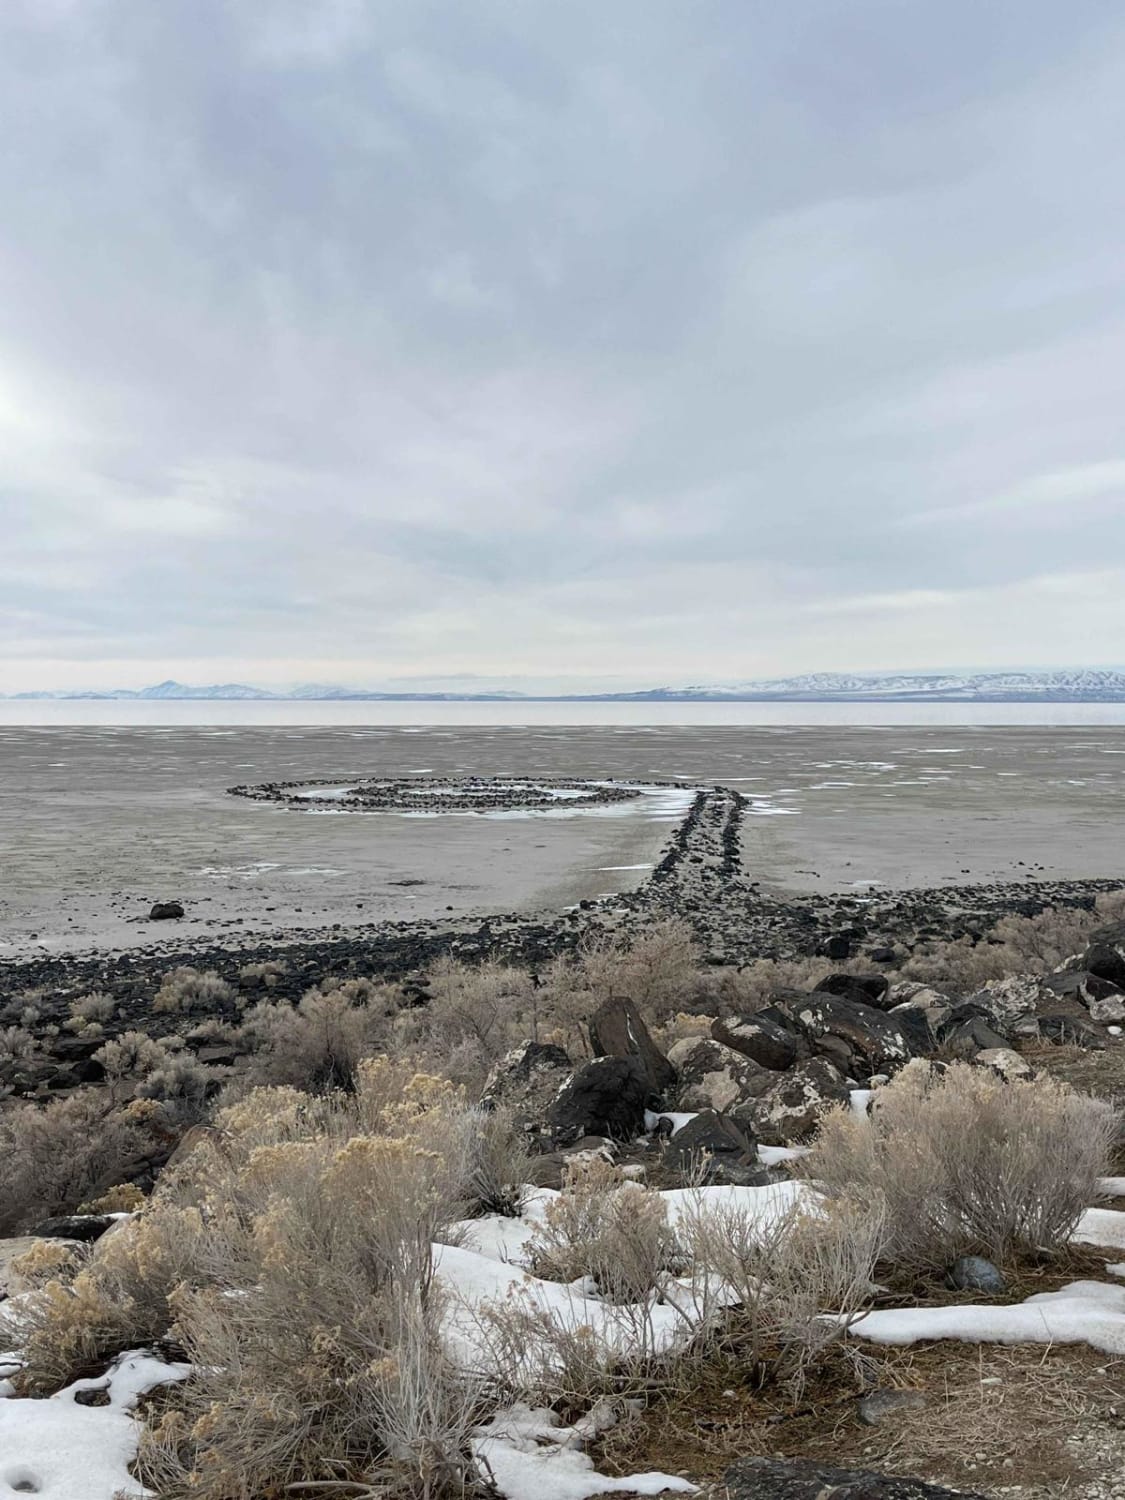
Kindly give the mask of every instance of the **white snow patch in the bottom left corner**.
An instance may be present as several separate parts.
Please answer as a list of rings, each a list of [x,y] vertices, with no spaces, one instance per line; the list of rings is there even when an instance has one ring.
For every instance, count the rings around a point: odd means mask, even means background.
[[[46,1401],[0,1400],[0,1496],[114,1500],[152,1494],[129,1474],[138,1434],[130,1413],[147,1390],[188,1372],[188,1365],[166,1365],[134,1350],[108,1376],[76,1380]],[[110,1406],[75,1401],[80,1390],[102,1389]]]

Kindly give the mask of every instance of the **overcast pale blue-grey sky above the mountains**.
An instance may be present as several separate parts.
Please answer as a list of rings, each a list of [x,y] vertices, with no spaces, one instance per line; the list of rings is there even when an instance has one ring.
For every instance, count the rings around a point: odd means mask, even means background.
[[[4,0],[0,692],[1125,658],[1116,0]]]

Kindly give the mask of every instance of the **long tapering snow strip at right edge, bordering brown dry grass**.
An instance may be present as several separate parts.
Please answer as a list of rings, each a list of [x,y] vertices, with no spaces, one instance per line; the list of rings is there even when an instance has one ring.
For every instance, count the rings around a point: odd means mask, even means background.
[[[1072,1281],[1011,1306],[888,1308],[867,1312],[852,1334],[873,1344],[958,1338],[969,1344],[1089,1344],[1125,1354],[1125,1287]]]

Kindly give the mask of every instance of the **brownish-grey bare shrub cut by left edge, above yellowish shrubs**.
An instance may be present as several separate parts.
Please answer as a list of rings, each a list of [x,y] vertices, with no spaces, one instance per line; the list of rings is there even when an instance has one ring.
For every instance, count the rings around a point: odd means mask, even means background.
[[[105,1089],[0,1108],[0,1234],[69,1214],[153,1148],[152,1124]]]

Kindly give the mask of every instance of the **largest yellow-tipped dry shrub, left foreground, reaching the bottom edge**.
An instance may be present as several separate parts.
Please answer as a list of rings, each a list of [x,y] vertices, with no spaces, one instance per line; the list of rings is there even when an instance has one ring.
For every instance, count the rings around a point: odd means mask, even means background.
[[[198,1203],[208,1238],[171,1299],[196,1372],[141,1444],[160,1496],[468,1482],[477,1392],[442,1352],[432,1258],[460,1210],[460,1150],[434,1149],[456,1142],[442,1122],[459,1108],[384,1062],[351,1096],[256,1090],[218,1118],[165,1190]]]

